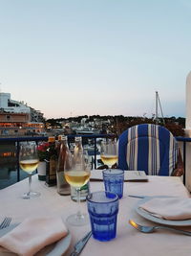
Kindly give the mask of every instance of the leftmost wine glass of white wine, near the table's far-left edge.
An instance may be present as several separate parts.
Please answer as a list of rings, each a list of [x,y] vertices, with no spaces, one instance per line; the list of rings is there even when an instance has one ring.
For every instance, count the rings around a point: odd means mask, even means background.
[[[32,172],[36,170],[38,163],[39,159],[35,142],[21,142],[19,151],[19,165],[20,168],[29,175],[29,192],[24,193],[22,198],[30,199],[40,196],[40,193],[33,192],[31,190]]]

